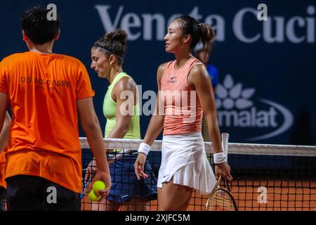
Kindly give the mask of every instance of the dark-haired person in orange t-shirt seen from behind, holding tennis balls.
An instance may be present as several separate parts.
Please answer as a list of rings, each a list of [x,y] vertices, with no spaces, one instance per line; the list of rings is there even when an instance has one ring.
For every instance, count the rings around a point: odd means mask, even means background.
[[[12,112],[6,152],[8,210],[80,210],[78,117],[97,161],[93,182],[106,184],[98,192],[101,200],[110,191],[88,73],[76,58],[53,53],[60,20],[48,20],[48,13],[46,7],[23,13],[22,34],[29,51],[0,63],[0,127],[7,105]]]

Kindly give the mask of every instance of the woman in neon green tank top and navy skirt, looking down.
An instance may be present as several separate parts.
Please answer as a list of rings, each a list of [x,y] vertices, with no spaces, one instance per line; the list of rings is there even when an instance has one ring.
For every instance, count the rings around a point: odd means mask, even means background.
[[[103,113],[107,119],[105,138],[140,139],[137,85],[122,69],[126,39],[124,30],[108,32],[91,49],[91,68],[98,73],[98,77],[110,82],[103,102]],[[117,151],[120,150],[113,150],[112,153]],[[150,198],[157,198],[157,180],[149,176],[138,181],[134,171],[136,158],[137,150],[110,164],[110,194],[103,204],[93,205],[95,210],[149,210]],[[93,161],[90,165],[93,165]],[[152,173],[149,163],[146,165],[147,173]],[[91,172],[96,167],[88,168]]]

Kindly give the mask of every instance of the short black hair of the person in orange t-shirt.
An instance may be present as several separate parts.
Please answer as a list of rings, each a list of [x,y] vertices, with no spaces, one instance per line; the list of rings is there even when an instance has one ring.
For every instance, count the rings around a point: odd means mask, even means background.
[[[48,20],[50,11],[44,6],[34,6],[22,14],[22,29],[35,44],[52,41],[59,32],[60,18],[57,15],[56,20]]]

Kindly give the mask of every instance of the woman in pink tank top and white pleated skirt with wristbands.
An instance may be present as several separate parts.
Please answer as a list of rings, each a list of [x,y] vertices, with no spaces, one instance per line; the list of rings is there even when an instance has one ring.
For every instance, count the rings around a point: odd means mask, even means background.
[[[144,178],[143,167],[150,146],[164,130],[157,182],[159,210],[186,210],[192,191],[211,193],[215,186],[201,134],[203,113],[216,158],[215,174],[224,176],[228,182],[232,180],[220,145],[209,74],[191,53],[199,41],[206,49],[213,39],[212,28],[189,15],[173,20],[164,37],[166,52],[173,53],[176,60],[160,65],[157,70],[157,105],[135,163],[136,176]]]

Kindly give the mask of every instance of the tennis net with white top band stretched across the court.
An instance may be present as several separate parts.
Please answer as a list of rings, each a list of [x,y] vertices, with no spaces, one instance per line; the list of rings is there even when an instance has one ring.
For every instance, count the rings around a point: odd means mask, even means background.
[[[136,157],[135,154],[141,140],[104,140],[107,149],[114,150],[109,156],[112,167],[116,167],[116,163],[119,161],[123,165],[129,163],[133,167],[133,160],[124,161],[124,158],[131,159],[131,155]],[[93,155],[86,138],[80,138],[80,142],[82,165],[83,168],[86,168]],[[209,142],[205,142],[205,147],[206,155],[213,167],[213,147]],[[154,141],[147,157],[152,177],[158,177],[161,148],[162,141]],[[118,149],[124,149],[125,152]],[[229,143],[228,163],[234,177],[231,185],[232,195],[240,211],[316,211],[316,146]],[[84,174],[85,170],[83,177]],[[115,180],[115,183],[121,183],[115,188],[133,186],[133,184],[129,184],[126,176],[133,177],[135,174],[129,172],[124,175],[125,178],[121,181]],[[115,179],[118,177],[120,176],[115,176]],[[150,185],[156,185],[152,184],[154,179],[150,179],[149,182]],[[126,191],[135,190],[127,188],[125,193]],[[118,190],[115,193],[122,192]],[[187,210],[203,211],[207,197],[207,195],[200,195],[195,191]],[[111,202],[92,203],[88,200],[88,193],[84,193],[81,203],[82,210],[113,210],[113,205],[107,207]],[[117,209],[121,207],[121,210],[155,211],[158,209],[157,196],[151,196],[145,202],[127,199],[126,202],[121,203],[121,206],[116,205],[116,207]]]

